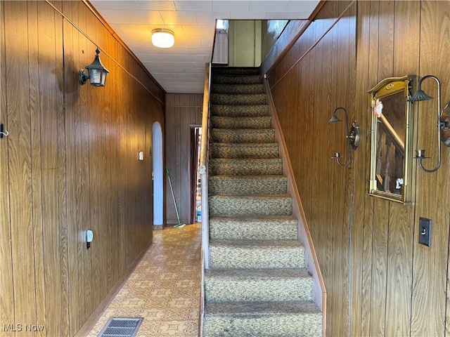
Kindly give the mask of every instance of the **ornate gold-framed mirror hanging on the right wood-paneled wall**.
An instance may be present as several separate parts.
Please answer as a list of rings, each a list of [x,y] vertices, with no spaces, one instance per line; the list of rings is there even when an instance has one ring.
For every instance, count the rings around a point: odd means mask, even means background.
[[[368,91],[372,116],[368,193],[402,203],[411,201],[413,79],[413,75],[390,77]]]

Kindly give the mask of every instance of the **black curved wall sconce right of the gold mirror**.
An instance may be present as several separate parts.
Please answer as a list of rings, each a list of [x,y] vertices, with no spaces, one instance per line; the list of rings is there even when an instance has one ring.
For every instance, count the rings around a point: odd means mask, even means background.
[[[422,161],[423,159],[428,159],[430,157],[425,156],[425,150],[416,150],[416,157],[413,157],[414,159],[418,160],[418,164],[420,169],[427,173],[432,173],[437,171],[439,167],[441,166],[441,140],[444,142],[446,146],[450,146],[450,113],[444,113],[447,108],[449,108],[450,102],[447,103],[447,105],[444,107],[443,110],[441,110],[441,83],[437,77],[433,75],[426,75],[422,77],[418,82],[418,88],[416,93],[411,96],[409,99],[410,102],[420,102],[423,100],[432,100],[432,96],[426,94],[422,90],[422,82],[425,79],[434,79],[437,84],[437,110],[436,110],[436,127],[437,127],[437,164],[433,169],[425,169],[423,167]]]

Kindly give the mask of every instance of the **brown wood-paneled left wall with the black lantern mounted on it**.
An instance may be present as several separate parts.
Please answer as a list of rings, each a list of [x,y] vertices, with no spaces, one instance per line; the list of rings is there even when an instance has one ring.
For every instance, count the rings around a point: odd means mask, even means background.
[[[165,93],[82,1],[0,7],[0,335],[73,336],[152,242]],[[96,46],[106,86],[80,86]]]

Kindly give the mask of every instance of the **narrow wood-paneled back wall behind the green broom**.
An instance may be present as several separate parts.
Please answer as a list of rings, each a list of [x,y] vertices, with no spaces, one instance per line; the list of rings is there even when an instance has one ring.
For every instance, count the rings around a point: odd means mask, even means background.
[[[202,124],[203,95],[167,93],[165,148],[166,166],[169,169],[176,206],[181,223],[189,223],[191,209],[191,127]],[[167,182],[167,178],[166,182]],[[195,191],[194,191],[195,195]],[[165,184],[166,223],[174,225],[176,213],[169,183]]]

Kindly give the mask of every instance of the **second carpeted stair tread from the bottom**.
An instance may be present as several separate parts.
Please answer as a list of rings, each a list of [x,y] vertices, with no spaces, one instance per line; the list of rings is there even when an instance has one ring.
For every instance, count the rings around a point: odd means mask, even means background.
[[[299,268],[267,268],[267,269],[224,269],[206,270],[205,277],[218,277],[220,279],[286,279],[310,278],[305,267]]]

